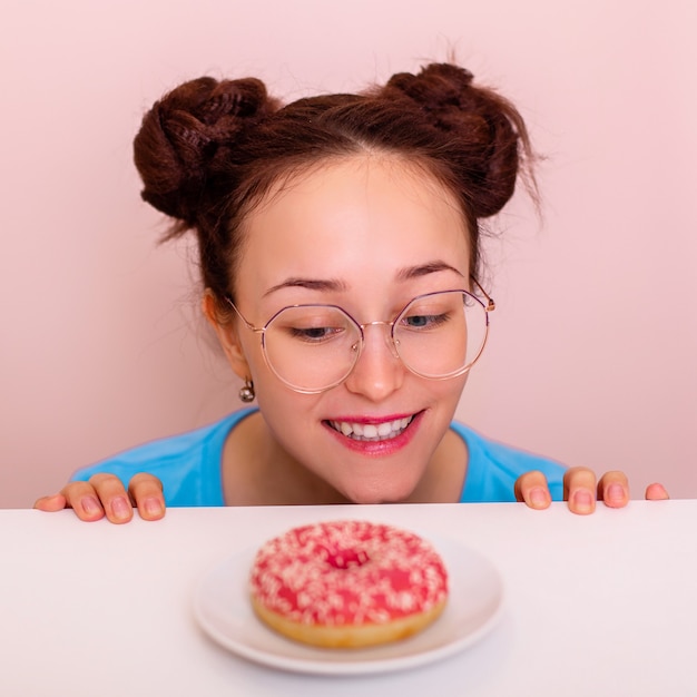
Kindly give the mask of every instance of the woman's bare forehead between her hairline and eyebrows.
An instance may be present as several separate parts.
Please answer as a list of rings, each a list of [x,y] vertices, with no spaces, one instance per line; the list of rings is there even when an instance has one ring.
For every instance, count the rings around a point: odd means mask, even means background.
[[[238,281],[256,292],[285,277],[351,286],[431,262],[468,273],[469,237],[454,196],[421,168],[362,157],[294,177],[252,212]]]

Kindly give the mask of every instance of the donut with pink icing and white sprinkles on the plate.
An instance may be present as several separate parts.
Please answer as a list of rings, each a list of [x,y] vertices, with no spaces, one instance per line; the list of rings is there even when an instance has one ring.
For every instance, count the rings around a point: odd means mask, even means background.
[[[361,520],[293,528],[265,542],[249,576],[256,616],[317,647],[397,641],[443,611],[448,572],[418,534]]]

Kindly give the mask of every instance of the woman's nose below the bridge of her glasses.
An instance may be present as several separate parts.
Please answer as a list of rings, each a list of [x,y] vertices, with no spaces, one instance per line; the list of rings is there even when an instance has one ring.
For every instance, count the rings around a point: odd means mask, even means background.
[[[402,386],[405,369],[392,342],[387,323],[365,325],[363,336],[363,351],[345,385],[350,392],[380,402]]]

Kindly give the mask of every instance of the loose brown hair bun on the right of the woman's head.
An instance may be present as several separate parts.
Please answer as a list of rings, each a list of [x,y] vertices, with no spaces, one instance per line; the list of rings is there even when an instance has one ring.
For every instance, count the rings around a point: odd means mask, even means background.
[[[451,63],[431,63],[418,75],[396,73],[384,94],[406,97],[448,135],[450,147],[461,154],[460,177],[477,217],[494,215],[505,205],[516,188],[520,155],[531,159],[526,126],[511,102],[474,85],[469,70]]]

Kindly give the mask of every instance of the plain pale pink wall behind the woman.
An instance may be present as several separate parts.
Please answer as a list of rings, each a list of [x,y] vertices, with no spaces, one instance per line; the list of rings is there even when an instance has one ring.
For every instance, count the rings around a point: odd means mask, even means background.
[[[491,343],[460,416],[635,494],[697,494],[693,0],[4,0],[0,507],[239,405],[186,243],[158,247],[131,140],[178,82],[351,90],[459,60],[547,155],[494,225]]]

